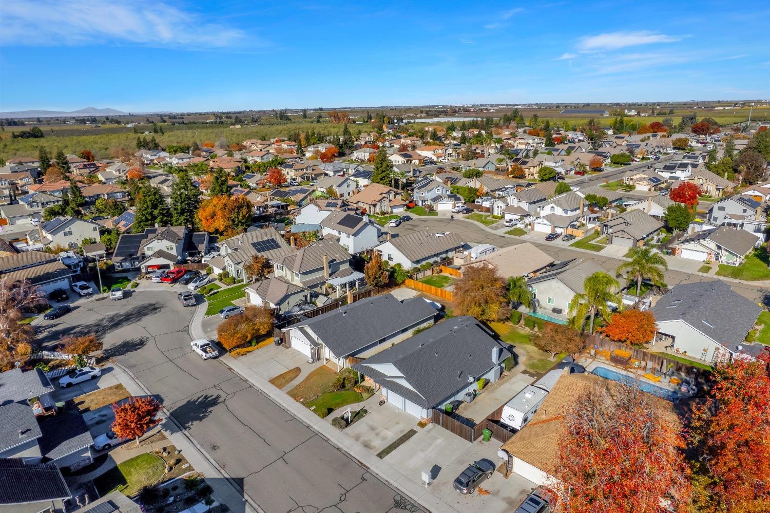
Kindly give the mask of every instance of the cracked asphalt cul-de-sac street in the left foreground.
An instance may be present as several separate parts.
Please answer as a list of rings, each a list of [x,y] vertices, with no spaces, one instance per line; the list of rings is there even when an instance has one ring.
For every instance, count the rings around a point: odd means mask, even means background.
[[[189,346],[192,309],[176,291],[89,299],[36,329],[45,344],[97,334],[176,421],[267,513],[420,511],[219,360]]]

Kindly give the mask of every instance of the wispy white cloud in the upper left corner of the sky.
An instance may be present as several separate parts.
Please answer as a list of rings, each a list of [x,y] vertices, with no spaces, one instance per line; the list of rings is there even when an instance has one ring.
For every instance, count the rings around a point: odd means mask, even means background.
[[[255,38],[163,2],[15,0],[3,5],[0,45],[224,48]]]

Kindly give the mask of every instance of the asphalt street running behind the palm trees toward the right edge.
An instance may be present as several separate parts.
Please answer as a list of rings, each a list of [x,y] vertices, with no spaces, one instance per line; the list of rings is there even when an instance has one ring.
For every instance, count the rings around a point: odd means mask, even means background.
[[[501,226],[501,225],[500,225]],[[494,228],[493,228],[494,229]],[[417,217],[414,216],[412,221],[401,224],[398,228],[390,229],[393,235],[399,233],[411,233],[415,230],[426,230],[429,233],[436,232],[454,232],[460,235],[460,239],[467,243],[472,244],[493,244],[497,247],[515,246],[524,242],[534,243],[545,253],[551,255],[554,260],[564,261],[572,258],[591,258],[601,267],[604,267],[611,275],[614,276],[615,269],[623,263],[625,260],[613,258],[600,253],[588,253],[584,251],[574,250],[568,246],[562,246],[557,243],[536,242],[531,239],[522,239],[521,237],[502,235],[497,233],[490,233],[479,226],[478,223],[469,220],[463,220],[455,218],[450,220],[447,217]],[[545,234],[538,234],[545,236]],[[702,276],[695,273],[686,273],[680,270],[668,270],[665,272],[665,283],[668,287],[674,287],[679,283],[693,283],[699,281],[713,281],[715,277]],[[752,283],[743,283],[735,281],[727,281],[735,292],[741,294],[748,299],[755,301],[755,303],[762,302],[767,306],[770,306],[770,289],[762,285],[755,285]]]

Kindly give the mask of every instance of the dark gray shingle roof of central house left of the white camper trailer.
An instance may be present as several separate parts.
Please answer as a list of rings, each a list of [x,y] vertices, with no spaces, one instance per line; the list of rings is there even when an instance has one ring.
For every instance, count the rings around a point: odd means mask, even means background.
[[[353,365],[353,369],[407,401],[431,408],[467,387],[470,377],[477,380],[494,367],[493,350],[500,351],[498,361],[511,354],[478,320],[456,317]],[[400,374],[383,374],[372,367],[377,364],[392,364]]]

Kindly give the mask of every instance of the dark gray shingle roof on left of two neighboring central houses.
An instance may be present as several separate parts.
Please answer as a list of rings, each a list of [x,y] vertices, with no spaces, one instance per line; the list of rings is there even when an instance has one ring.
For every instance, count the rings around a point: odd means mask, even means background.
[[[393,294],[370,297],[300,323],[313,330],[337,357],[352,354],[406,327],[433,318],[436,309],[420,297],[399,301]]]

